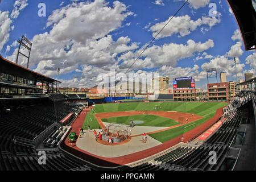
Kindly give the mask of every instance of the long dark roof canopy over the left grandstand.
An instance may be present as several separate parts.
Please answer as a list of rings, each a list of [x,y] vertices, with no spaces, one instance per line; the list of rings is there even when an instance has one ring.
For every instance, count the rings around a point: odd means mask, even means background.
[[[18,76],[30,80],[43,81],[43,82],[60,82],[48,76],[44,76],[40,73],[34,72],[28,68],[22,67],[12,61],[9,61],[0,55],[0,72],[13,76]]]

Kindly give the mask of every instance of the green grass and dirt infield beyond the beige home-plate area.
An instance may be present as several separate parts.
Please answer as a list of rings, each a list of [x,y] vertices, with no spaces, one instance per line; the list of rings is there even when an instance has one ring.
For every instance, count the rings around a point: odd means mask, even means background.
[[[131,120],[142,121],[140,126],[168,127],[164,131],[149,134],[166,142],[200,126],[214,117],[216,110],[226,102],[129,102],[99,104],[86,114],[84,129],[98,129],[101,122],[129,125]],[[100,122],[99,122],[100,121]],[[101,125],[100,125],[101,124]],[[143,133],[143,131],[142,131]]]

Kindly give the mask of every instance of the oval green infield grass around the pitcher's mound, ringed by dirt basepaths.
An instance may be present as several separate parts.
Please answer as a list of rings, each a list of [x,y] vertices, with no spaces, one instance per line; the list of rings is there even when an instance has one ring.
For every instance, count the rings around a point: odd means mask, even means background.
[[[139,114],[139,115],[130,115],[125,117],[112,117],[108,119],[101,119],[103,122],[108,123],[122,123],[125,125],[130,125],[131,119],[135,121],[143,121],[144,123],[139,124],[138,126],[174,126],[178,123],[169,118],[159,117],[158,115],[150,115],[150,114]]]

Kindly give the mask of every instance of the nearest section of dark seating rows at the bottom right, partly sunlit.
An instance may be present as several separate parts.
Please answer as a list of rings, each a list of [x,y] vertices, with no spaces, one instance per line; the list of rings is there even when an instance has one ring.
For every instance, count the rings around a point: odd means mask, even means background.
[[[209,152],[217,154],[217,164],[224,160],[228,146],[212,145],[200,147],[178,147],[175,150],[160,156],[151,162],[131,168],[135,171],[172,171],[182,170],[217,170],[220,165],[209,164]]]

